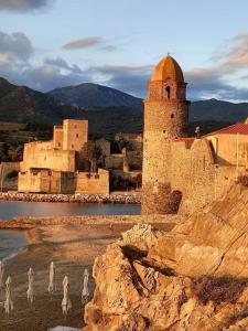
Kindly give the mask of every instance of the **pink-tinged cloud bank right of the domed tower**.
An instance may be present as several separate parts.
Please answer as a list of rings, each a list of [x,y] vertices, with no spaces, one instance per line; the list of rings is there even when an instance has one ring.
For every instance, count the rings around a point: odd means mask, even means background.
[[[248,100],[248,89],[235,84],[239,79],[248,79],[244,74],[248,67],[248,33],[225,42],[214,52],[211,61],[214,65],[208,68],[194,68],[185,73],[190,97]]]

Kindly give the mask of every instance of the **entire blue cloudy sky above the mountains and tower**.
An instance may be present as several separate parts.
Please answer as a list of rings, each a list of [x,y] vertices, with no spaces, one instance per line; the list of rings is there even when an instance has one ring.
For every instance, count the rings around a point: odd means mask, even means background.
[[[0,0],[0,76],[47,92],[97,83],[138,97],[168,53],[188,99],[248,102],[247,0]]]

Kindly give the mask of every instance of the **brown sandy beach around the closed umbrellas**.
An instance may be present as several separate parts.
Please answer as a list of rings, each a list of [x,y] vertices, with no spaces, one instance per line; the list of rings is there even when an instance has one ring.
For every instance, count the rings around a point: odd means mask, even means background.
[[[83,327],[84,307],[80,303],[83,273],[87,267],[91,275],[95,257],[103,254],[108,244],[132,227],[131,223],[114,224],[51,224],[36,225],[25,231],[28,247],[8,261],[6,276],[12,276],[14,310],[8,318],[0,309],[1,331],[44,331],[56,325]],[[173,223],[153,224],[154,227],[170,231]],[[57,290],[50,296],[48,265],[55,261]],[[35,273],[35,302],[31,308],[26,302],[29,268]],[[62,314],[62,280],[67,275],[71,280],[73,309],[67,319]],[[90,293],[94,290],[90,277]]]

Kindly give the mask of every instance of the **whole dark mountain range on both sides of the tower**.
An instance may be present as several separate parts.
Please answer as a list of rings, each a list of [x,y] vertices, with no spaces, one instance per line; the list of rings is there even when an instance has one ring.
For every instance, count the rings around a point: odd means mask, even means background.
[[[48,93],[0,78],[0,121],[54,125],[64,118],[89,120],[94,135],[138,132],[143,125],[142,99],[97,84],[56,88]],[[217,99],[191,104],[190,121],[236,122],[248,117],[248,103]]]

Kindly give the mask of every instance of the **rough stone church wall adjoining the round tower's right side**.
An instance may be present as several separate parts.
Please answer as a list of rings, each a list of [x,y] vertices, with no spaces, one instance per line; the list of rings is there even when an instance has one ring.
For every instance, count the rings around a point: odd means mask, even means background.
[[[215,159],[207,139],[172,142],[171,186],[182,193],[180,212],[192,213],[209,204],[235,181],[236,167],[220,167]]]

